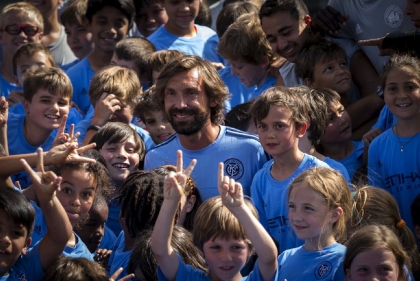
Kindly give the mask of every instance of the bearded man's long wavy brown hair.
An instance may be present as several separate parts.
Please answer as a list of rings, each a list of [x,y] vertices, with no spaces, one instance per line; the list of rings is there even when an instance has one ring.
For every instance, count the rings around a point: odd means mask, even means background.
[[[209,62],[198,56],[185,55],[166,64],[159,74],[156,83],[156,98],[159,105],[164,109],[164,95],[167,82],[175,75],[190,70],[197,70],[202,79],[205,95],[209,101],[215,103],[210,109],[212,125],[223,122],[225,101],[229,92],[220,78],[216,68]]]

